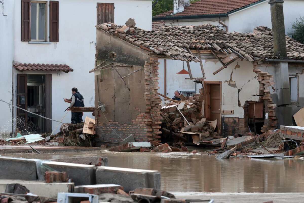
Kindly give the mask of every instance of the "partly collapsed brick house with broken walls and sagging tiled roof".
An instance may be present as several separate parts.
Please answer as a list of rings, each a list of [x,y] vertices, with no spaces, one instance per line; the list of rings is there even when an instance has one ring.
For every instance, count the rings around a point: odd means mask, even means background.
[[[274,12],[282,2],[273,1]],[[275,15],[275,13],[273,13]],[[159,26],[146,31],[104,23],[97,27],[95,117],[97,145],[161,138],[159,80],[163,60],[187,64],[185,79],[201,84],[200,117],[217,120],[222,136],[266,132],[291,125],[304,94],[304,45],[285,36],[282,15],[273,31],[230,33],[213,25]],[[194,78],[191,63],[200,64]],[[175,74],[175,73],[165,73]],[[170,81],[167,81],[168,83]],[[105,106],[103,106],[104,104]],[[104,109],[105,107],[105,109]]]

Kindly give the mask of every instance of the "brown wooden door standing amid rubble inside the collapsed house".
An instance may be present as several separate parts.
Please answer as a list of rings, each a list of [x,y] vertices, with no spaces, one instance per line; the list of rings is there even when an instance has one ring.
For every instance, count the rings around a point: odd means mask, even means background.
[[[216,131],[220,134],[221,127],[221,84],[206,84],[206,108],[207,120],[217,120]]]

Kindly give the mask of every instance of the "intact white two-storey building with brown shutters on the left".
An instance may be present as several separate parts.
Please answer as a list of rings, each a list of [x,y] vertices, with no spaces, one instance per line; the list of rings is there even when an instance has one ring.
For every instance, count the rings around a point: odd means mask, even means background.
[[[69,106],[62,98],[71,97],[72,87],[84,96],[85,106],[94,106],[94,75],[89,71],[95,66],[95,25],[124,25],[133,18],[136,26],[151,30],[151,0],[2,2],[0,99],[57,121]],[[22,112],[2,102],[0,112],[0,135],[12,132]],[[29,130],[50,132],[57,126],[30,114],[22,117]],[[69,112],[62,122],[70,120]]]

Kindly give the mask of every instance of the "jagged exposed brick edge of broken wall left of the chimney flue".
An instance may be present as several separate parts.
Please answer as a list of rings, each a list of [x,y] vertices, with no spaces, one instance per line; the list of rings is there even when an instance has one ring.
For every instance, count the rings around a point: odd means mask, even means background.
[[[258,60],[255,61],[253,69],[253,72],[258,74],[257,80],[260,82],[260,100],[267,100],[268,103],[268,123],[265,124],[261,129],[262,132],[267,132],[268,130],[277,129],[278,125],[278,119],[275,116],[275,108],[277,105],[273,103],[270,93],[270,88],[275,90],[275,82],[272,75],[259,69],[260,66],[274,66],[274,64],[271,62]]]

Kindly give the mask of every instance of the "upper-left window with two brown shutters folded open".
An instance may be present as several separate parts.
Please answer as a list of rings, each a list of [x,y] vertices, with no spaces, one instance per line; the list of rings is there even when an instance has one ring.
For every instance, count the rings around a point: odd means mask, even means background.
[[[59,2],[21,0],[21,41],[48,41],[48,38],[50,42],[59,41]]]

